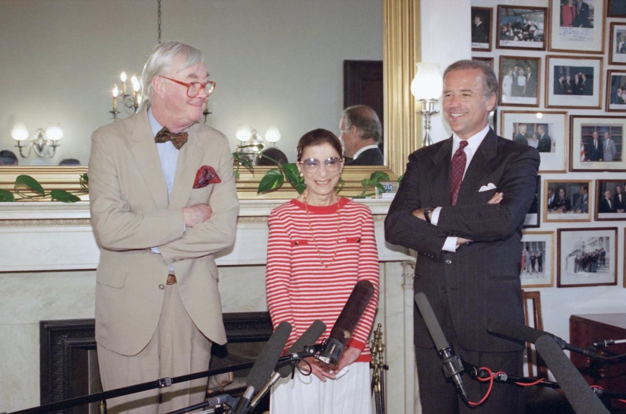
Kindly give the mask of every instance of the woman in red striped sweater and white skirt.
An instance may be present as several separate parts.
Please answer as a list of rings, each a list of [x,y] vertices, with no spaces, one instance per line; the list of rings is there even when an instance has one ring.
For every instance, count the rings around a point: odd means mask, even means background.
[[[267,307],[274,326],[286,321],[293,327],[285,348],[315,319],[326,324],[322,338],[327,338],[357,282],[370,281],[375,291],[337,366],[310,358],[312,375],[297,372],[294,380],[280,380],[272,391],[270,412],[371,413],[367,341],[379,284],[372,214],[335,192],[344,160],[334,133],[306,133],[298,143],[297,161],[307,188],[272,210],[268,219]]]

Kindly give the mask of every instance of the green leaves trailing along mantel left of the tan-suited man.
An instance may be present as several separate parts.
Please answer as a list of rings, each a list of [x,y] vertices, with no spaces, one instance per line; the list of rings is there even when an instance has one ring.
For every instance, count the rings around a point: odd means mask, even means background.
[[[81,174],[78,180],[82,190],[66,191],[55,189],[46,193],[41,184],[30,175],[18,175],[13,185],[13,192],[19,197],[16,198],[9,190],[0,189],[0,202],[16,202],[50,197],[53,201],[74,203],[80,201],[76,194],[86,194],[89,191],[89,177],[87,173]],[[35,195],[27,194],[26,191],[35,193]]]

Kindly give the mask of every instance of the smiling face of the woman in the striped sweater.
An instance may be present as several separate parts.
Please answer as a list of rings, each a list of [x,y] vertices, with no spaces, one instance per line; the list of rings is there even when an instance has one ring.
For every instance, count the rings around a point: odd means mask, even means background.
[[[334,190],[339,182],[343,160],[337,171],[329,171],[324,161],[328,158],[341,158],[341,154],[329,143],[319,145],[309,145],[302,150],[303,162],[309,158],[315,158],[320,164],[315,172],[307,172],[301,163],[298,163],[298,170],[302,173],[304,184],[307,185],[307,202],[309,204],[320,205],[322,202],[334,197]]]

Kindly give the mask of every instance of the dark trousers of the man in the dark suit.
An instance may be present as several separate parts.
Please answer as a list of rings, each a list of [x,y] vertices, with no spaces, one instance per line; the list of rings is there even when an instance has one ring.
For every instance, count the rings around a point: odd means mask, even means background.
[[[479,367],[486,366],[494,373],[505,371],[508,375],[523,376],[523,351],[480,352],[463,349],[454,336],[449,312],[446,312],[444,319],[441,321],[441,326],[446,339],[464,362]],[[453,381],[446,380],[441,369],[441,358],[436,349],[416,347],[415,354],[418,365],[419,397],[424,414],[521,414],[524,412],[522,387],[496,381],[485,403],[476,408],[470,408],[457,395]],[[467,374],[463,374],[462,378],[469,400],[480,401],[488,390],[489,383],[475,380]]]

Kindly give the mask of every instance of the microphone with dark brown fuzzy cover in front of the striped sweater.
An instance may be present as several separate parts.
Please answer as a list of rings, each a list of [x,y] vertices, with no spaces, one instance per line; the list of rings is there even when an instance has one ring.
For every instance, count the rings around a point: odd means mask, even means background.
[[[374,285],[369,281],[360,281],[352,289],[346,305],[332,326],[331,334],[324,343],[324,348],[316,358],[327,365],[336,364],[344,347],[352,338],[352,331],[374,295]]]

